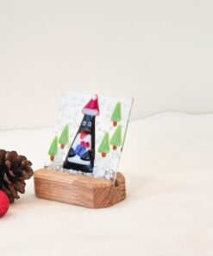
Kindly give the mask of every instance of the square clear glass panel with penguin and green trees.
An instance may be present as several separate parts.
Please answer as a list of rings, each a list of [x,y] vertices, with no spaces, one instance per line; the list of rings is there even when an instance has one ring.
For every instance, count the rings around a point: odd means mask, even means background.
[[[132,98],[63,93],[46,168],[114,180]]]

